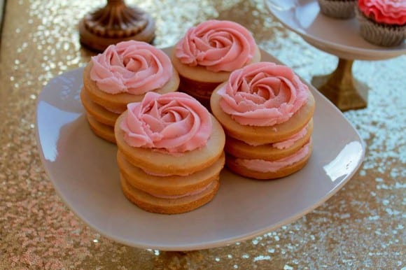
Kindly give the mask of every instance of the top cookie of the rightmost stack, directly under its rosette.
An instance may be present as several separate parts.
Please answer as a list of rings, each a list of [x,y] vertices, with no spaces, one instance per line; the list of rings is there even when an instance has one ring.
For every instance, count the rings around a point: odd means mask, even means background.
[[[284,141],[290,136],[297,134],[313,117],[314,97],[309,91],[309,99],[299,111],[297,111],[288,121],[271,127],[257,127],[248,125],[239,125],[230,115],[223,112],[220,107],[221,96],[217,93],[225,83],[218,85],[213,94],[211,94],[210,106],[211,112],[221,122],[225,133],[241,141],[251,141],[253,143],[265,144]]]

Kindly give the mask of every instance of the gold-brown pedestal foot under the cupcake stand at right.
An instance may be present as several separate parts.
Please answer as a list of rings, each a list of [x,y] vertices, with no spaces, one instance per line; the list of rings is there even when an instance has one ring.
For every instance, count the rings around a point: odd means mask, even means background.
[[[327,76],[315,76],[311,80],[325,97],[341,111],[365,108],[367,106],[367,87],[353,78],[353,60],[339,58],[335,71]]]

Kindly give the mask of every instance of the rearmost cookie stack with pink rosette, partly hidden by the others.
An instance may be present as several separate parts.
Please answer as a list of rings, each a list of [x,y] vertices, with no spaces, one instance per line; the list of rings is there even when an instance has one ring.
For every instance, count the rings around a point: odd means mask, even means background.
[[[208,20],[188,29],[172,52],[179,72],[179,90],[209,108],[211,92],[230,73],[260,61],[260,50],[251,33],[237,22]]]

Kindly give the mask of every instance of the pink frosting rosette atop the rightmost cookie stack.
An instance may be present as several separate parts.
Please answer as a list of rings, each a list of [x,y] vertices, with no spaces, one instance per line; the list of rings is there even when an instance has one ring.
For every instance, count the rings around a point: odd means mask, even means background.
[[[240,125],[267,127],[289,120],[306,103],[308,88],[288,66],[259,62],[233,71],[218,94]]]

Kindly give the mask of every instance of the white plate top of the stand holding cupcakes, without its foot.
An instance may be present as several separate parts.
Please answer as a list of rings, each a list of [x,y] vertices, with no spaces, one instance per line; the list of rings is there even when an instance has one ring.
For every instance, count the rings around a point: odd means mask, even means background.
[[[354,17],[339,20],[320,13],[316,0],[265,0],[269,11],[314,47],[344,59],[379,60],[406,54],[406,43],[392,48],[372,45],[359,33]]]

